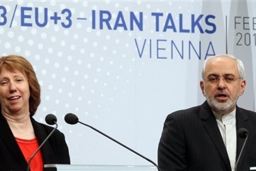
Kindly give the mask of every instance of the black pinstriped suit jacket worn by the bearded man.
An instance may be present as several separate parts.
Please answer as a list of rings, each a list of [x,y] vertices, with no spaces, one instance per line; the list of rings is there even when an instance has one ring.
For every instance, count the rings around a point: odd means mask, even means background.
[[[250,170],[256,166],[256,113],[236,107],[236,127],[249,132],[237,170]],[[244,141],[237,137],[236,158]],[[161,171],[231,171],[225,144],[206,101],[167,116],[158,146],[158,165]]]

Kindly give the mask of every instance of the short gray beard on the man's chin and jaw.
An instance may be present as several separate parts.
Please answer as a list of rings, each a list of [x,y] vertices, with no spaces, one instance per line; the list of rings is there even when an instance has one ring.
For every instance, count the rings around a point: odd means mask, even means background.
[[[208,97],[206,97],[208,104],[210,106],[212,106],[213,108],[220,110],[220,111],[229,110],[231,107],[233,107],[233,105],[236,104],[237,99],[238,99],[238,97],[234,101],[229,99],[227,102],[221,103],[221,102],[218,102],[216,99],[210,100]]]

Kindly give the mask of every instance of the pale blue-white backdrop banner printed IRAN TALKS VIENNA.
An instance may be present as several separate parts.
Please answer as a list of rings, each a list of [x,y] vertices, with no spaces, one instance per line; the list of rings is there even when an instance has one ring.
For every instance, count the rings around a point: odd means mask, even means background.
[[[240,107],[255,110],[255,1],[1,1],[1,55],[33,65],[42,89],[35,118],[58,118],[72,164],[157,162],[167,114],[200,105],[201,65],[233,54],[246,67]]]

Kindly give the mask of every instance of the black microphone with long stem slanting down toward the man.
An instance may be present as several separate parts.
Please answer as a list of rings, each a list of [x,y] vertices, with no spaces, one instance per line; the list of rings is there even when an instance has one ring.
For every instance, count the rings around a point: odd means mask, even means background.
[[[121,142],[115,140],[114,138],[109,137],[108,135],[106,135],[105,133],[99,131],[98,129],[93,128],[92,126],[87,125],[87,124],[85,124],[85,123],[83,123],[83,122],[80,122],[79,119],[78,119],[78,117],[77,117],[75,114],[73,114],[73,113],[67,113],[67,114],[65,115],[65,117],[64,117],[64,120],[65,120],[68,124],[71,124],[71,125],[74,125],[74,124],[77,124],[77,123],[81,123],[82,125],[88,126],[89,128],[91,128],[91,129],[97,131],[98,133],[100,133],[100,134],[104,135],[105,137],[109,138],[110,140],[115,141],[115,142],[118,143],[119,145],[122,145],[124,148],[130,150],[131,152],[137,154],[138,156],[144,158],[145,160],[151,162],[151,163],[152,163],[153,165],[155,165],[155,166],[157,167],[157,169],[160,171],[158,165],[156,165],[152,160],[150,160],[149,158],[143,156],[142,154],[140,154],[140,153],[134,151],[133,149],[127,147],[126,145],[122,144]]]

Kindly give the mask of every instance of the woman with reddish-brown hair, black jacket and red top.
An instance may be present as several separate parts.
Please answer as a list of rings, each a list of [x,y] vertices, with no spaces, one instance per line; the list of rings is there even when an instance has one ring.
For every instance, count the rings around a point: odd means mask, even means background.
[[[1,57],[0,170],[26,170],[31,155],[53,130],[32,117],[40,101],[40,85],[31,64],[17,55]],[[70,164],[59,130],[32,159],[30,169],[43,170],[44,164]]]

